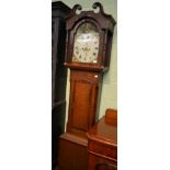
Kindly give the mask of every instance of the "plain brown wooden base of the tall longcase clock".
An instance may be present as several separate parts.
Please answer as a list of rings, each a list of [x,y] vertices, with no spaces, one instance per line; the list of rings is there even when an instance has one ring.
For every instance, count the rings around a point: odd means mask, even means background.
[[[58,170],[88,169],[88,139],[65,133],[59,139]]]

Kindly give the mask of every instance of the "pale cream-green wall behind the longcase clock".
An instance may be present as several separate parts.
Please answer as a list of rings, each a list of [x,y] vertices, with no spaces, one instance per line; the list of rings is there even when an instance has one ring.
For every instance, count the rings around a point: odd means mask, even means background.
[[[53,0],[56,1],[56,0]],[[81,4],[82,10],[92,10],[92,4],[95,2],[93,0],[61,0],[65,4],[72,8],[75,4]],[[98,0],[103,4],[104,11],[117,21],[117,2],[116,0]],[[69,71],[67,81],[67,113],[69,104]],[[101,94],[101,104],[99,110],[99,116],[103,116],[107,107],[117,107],[117,29],[115,26],[112,54],[111,54],[111,65],[110,70],[104,73],[103,87]],[[66,117],[68,117],[66,115]],[[67,122],[67,120],[66,120]]]

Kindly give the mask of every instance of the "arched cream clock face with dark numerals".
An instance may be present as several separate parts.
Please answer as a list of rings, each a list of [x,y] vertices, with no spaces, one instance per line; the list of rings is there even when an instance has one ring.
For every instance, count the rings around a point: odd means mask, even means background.
[[[99,33],[91,23],[82,24],[75,35],[72,61],[98,63]]]

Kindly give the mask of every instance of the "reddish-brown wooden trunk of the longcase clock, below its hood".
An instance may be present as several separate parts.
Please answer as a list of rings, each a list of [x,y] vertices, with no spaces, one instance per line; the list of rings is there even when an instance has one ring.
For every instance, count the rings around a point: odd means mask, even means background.
[[[67,131],[86,136],[86,133],[98,117],[97,105],[100,100],[102,76],[98,72],[71,70],[70,81],[70,107]]]

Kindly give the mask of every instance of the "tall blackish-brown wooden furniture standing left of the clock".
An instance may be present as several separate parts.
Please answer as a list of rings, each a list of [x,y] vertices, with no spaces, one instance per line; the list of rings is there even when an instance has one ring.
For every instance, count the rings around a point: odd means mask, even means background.
[[[66,15],[70,9],[63,2],[52,3],[52,161],[57,159],[58,138],[64,133],[66,114],[67,69],[64,67],[66,48]]]

